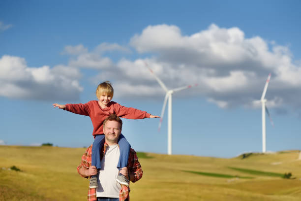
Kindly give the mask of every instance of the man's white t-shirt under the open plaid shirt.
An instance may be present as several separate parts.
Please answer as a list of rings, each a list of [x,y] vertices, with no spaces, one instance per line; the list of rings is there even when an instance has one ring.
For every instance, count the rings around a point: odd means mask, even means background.
[[[121,186],[116,181],[119,174],[117,168],[119,156],[118,144],[107,146],[106,153],[101,160],[101,169],[97,173],[96,197],[119,198]]]

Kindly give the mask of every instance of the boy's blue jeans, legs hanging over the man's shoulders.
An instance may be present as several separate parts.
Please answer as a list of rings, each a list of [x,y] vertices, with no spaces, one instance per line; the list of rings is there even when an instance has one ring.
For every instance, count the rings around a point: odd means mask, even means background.
[[[97,169],[101,169],[101,160],[100,160],[100,151],[105,142],[104,134],[98,134],[95,136],[93,145],[92,145],[92,157],[91,165],[96,166]],[[117,164],[118,168],[127,167],[128,155],[131,145],[125,139],[123,134],[120,134],[118,139],[120,157]],[[94,175],[96,176],[96,175]],[[93,176],[92,176],[93,177]]]

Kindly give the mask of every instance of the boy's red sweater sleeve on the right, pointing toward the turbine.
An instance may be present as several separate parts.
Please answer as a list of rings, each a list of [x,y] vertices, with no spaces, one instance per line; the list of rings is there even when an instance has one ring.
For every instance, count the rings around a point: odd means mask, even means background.
[[[135,109],[133,107],[125,107],[119,103],[114,104],[114,110],[117,116],[125,119],[145,119],[150,118],[151,115],[146,111]]]

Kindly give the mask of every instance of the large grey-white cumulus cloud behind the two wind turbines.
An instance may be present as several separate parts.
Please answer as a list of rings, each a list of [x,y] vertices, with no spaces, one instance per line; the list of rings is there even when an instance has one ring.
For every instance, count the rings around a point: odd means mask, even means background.
[[[212,24],[198,33],[182,35],[177,26],[148,26],[130,39],[130,45],[138,53],[153,56],[122,59],[94,78],[114,79],[117,96],[164,95],[147,63],[168,88],[197,83],[198,87],[181,93],[201,95],[223,108],[259,107],[271,72],[267,105],[301,106],[301,66],[293,61],[289,49],[260,36],[246,38],[237,27],[226,29]]]

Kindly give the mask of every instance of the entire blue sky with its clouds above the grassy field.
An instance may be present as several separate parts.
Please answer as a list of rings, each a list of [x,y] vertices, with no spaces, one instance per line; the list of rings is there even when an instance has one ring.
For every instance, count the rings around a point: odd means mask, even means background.
[[[261,97],[271,72],[267,150],[301,149],[301,3],[281,1],[0,1],[0,144],[92,143],[90,118],[52,103],[113,100],[160,115],[173,96],[173,153],[262,150]],[[124,120],[136,151],[167,153],[167,110]]]

